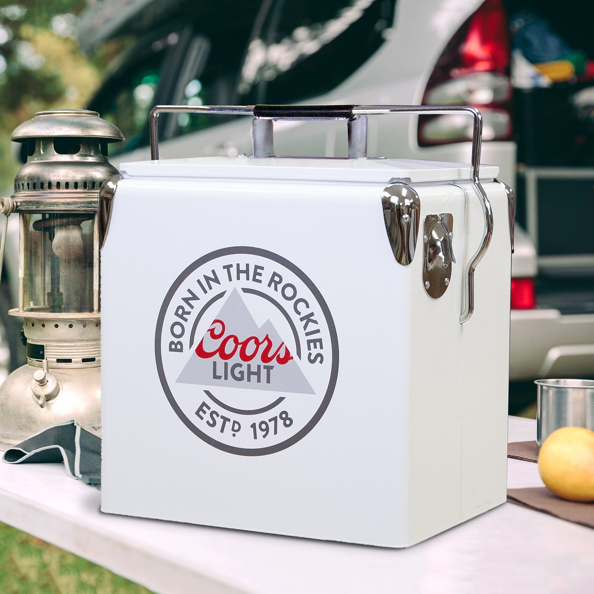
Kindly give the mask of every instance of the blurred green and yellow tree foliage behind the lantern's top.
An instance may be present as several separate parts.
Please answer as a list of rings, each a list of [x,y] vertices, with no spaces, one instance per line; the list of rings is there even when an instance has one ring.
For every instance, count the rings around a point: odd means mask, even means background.
[[[100,83],[98,63],[78,49],[75,15],[86,2],[0,0],[0,188],[18,163],[10,134],[42,109],[80,108]]]

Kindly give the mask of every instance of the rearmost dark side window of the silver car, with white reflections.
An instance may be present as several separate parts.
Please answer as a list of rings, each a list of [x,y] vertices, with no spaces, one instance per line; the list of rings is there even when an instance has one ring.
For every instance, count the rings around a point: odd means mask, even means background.
[[[241,103],[292,103],[328,93],[391,33],[393,0],[270,3],[238,81]]]

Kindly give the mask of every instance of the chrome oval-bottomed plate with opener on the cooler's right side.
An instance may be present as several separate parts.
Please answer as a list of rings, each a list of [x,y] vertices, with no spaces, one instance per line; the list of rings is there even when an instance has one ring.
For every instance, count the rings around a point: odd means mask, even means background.
[[[440,298],[450,285],[451,265],[456,263],[451,240],[454,217],[428,214],[423,229],[423,286],[431,299]]]

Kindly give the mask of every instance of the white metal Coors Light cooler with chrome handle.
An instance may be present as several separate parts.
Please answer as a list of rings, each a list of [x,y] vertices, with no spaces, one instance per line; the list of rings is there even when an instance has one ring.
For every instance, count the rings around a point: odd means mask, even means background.
[[[254,157],[158,160],[190,109],[253,114]],[[400,112],[473,116],[473,164],[365,158],[365,116]],[[347,119],[352,158],[274,157],[299,118]],[[513,194],[480,113],[151,132],[103,197],[102,510],[400,547],[503,503]]]

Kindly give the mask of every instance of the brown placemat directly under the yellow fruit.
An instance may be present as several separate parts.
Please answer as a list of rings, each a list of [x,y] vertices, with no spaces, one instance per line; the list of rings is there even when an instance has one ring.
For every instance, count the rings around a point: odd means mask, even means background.
[[[594,503],[561,499],[544,486],[507,489],[507,501],[531,510],[542,511],[568,522],[594,528]]]

